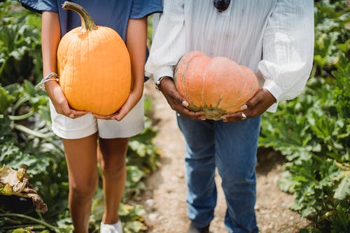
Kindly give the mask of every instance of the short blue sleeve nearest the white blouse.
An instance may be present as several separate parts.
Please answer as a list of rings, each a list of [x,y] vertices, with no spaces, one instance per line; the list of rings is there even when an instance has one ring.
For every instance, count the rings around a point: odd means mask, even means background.
[[[140,19],[153,13],[162,12],[162,0],[134,0],[130,19]]]

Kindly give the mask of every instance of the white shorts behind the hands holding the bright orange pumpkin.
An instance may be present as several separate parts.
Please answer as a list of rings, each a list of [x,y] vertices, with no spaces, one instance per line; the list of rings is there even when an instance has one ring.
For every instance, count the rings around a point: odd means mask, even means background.
[[[72,119],[56,112],[50,101],[52,132],[62,139],[81,139],[99,132],[102,139],[128,138],[144,130],[144,97],[123,120],[101,120],[87,113]]]

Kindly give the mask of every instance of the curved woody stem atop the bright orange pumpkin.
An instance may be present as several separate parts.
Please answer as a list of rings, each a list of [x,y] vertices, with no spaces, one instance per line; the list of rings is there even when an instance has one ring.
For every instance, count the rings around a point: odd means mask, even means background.
[[[90,16],[89,13],[87,13],[87,11],[83,8],[83,6],[80,6],[79,4],[73,3],[71,1],[64,1],[62,5],[62,9],[73,10],[79,14],[80,20],[81,20],[80,31],[82,33],[85,33],[85,31],[92,31],[97,29],[97,26],[94,23],[94,20],[92,20],[92,17]]]

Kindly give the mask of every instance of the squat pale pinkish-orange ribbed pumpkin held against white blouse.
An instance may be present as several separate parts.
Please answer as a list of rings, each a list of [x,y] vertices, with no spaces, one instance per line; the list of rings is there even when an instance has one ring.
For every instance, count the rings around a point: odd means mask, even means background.
[[[192,111],[203,111],[207,119],[221,120],[241,106],[259,89],[258,78],[246,66],[226,57],[208,57],[188,52],[176,66],[174,82]]]

